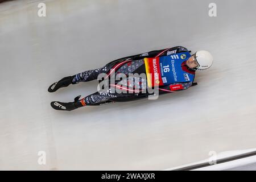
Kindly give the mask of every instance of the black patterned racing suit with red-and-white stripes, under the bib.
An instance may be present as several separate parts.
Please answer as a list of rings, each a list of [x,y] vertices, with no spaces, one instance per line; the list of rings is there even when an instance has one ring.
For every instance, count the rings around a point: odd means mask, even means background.
[[[146,73],[144,60],[143,60],[145,57],[166,56],[166,55],[172,55],[174,53],[187,52],[187,51],[188,51],[187,48],[177,46],[173,48],[162,49],[159,51],[150,51],[146,53],[141,53],[139,55],[123,57],[121,59],[114,60],[106,64],[104,67],[85,71],[82,73],[78,73],[77,75],[74,75],[72,83],[76,84],[78,82],[96,80],[100,73],[109,74],[113,68],[115,68],[115,74],[124,73],[125,75],[128,75],[129,73],[138,73],[138,74]],[[189,71],[195,74],[195,71],[192,71],[191,69],[189,69]],[[117,84],[117,82],[118,81],[115,81],[115,84]],[[137,84],[138,82],[141,83],[141,80],[138,80]],[[193,80],[190,82],[181,82],[181,83],[175,83],[175,84],[182,84],[183,89],[180,89],[180,90],[184,90],[184,89],[188,89],[190,86],[193,86]],[[145,86],[146,85],[139,85],[140,88]],[[159,94],[170,93],[170,92],[172,92],[170,90],[170,85],[159,86]],[[153,95],[152,93],[148,93],[148,92],[146,93],[142,93],[142,92],[113,93],[111,92],[111,90],[106,90],[105,92],[96,92],[96,93],[90,94],[89,96],[82,98],[80,102],[82,103],[83,106],[102,105],[102,104],[108,104],[111,102],[137,100],[139,98],[145,98],[152,95]]]

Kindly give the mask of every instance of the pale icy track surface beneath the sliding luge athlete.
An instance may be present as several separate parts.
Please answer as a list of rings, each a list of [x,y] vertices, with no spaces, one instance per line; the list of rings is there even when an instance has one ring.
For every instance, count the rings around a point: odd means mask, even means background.
[[[47,6],[39,18],[38,3]],[[0,169],[160,170],[255,148],[256,1],[10,1],[0,4]],[[209,50],[199,84],[158,100],[56,111],[64,76],[119,57],[184,46]],[[46,151],[46,165],[38,152]]]

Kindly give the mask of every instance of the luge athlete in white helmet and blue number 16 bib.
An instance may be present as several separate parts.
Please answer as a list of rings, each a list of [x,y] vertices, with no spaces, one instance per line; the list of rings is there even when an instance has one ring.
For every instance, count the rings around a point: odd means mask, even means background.
[[[83,106],[131,101],[154,95],[154,93],[147,91],[141,92],[147,88],[157,88],[159,94],[188,89],[197,84],[193,82],[195,72],[208,69],[213,63],[213,56],[208,51],[197,51],[193,55],[190,52],[181,46],[150,51],[114,60],[98,69],[64,77],[49,86],[48,92],[55,92],[70,84],[96,80],[100,73],[105,73],[108,78],[111,74],[117,75],[119,73],[126,76],[130,73],[146,74],[146,79],[134,77],[133,81],[127,82],[126,85],[124,83],[120,85],[120,80],[109,85],[115,89],[131,90],[132,92],[116,93],[112,92],[111,89],[101,90],[81,99],[80,96],[77,96],[74,102],[54,101],[51,102],[51,106],[56,110],[70,111]]]

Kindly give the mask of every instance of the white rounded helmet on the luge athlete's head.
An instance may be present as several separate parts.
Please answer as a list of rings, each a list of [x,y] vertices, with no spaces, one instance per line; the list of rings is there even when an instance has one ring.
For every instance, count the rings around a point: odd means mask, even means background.
[[[208,51],[204,51],[204,50],[197,51],[194,54],[194,56],[197,64],[199,65],[198,67],[195,68],[196,70],[203,70],[203,69],[210,68],[210,66],[213,63],[213,57]]]

